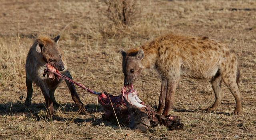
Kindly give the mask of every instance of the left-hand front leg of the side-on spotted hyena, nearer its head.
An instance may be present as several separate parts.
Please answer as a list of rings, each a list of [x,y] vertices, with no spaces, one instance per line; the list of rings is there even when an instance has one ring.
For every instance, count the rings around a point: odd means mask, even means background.
[[[161,93],[159,97],[159,103],[156,113],[162,114],[164,109],[164,103],[165,103],[165,97],[166,97],[166,91],[167,91],[167,80],[166,78],[162,78],[162,85],[161,85]]]

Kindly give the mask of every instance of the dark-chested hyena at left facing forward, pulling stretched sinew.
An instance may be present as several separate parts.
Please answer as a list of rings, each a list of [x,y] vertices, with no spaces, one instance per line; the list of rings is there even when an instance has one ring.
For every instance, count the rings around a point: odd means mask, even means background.
[[[50,109],[50,113],[54,113],[53,106],[58,106],[58,103],[54,97],[54,91],[61,82],[61,79],[50,79],[47,76],[43,77],[46,64],[50,63],[56,70],[61,71],[62,74],[72,79],[70,72],[67,69],[66,62],[58,47],[58,41],[60,35],[51,39],[48,36],[38,36],[26,59],[26,86],[27,97],[25,104],[29,106],[31,104],[31,98],[33,93],[32,83],[34,82],[40,87],[47,107]],[[80,111],[85,112],[84,104],[80,101],[74,84],[66,81],[66,84],[71,92],[72,99],[80,108]]]

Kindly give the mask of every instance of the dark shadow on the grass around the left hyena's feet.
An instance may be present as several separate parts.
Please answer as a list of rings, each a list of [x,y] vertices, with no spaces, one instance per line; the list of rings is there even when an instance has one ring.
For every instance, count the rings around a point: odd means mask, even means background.
[[[86,108],[88,113],[96,112],[96,108],[97,112],[104,111],[101,105],[97,106],[95,104],[88,104],[86,105]],[[49,114],[47,109],[48,108],[44,103],[32,103],[29,107],[26,107],[26,105],[20,101],[0,103],[0,115],[25,115],[27,118],[35,119],[36,121],[40,121],[42,119],[46,119],[48,121],[67,121],[66,118],[59,117],[58,113],[80,114],[80,112],[78,112],[79,108],[75,103],[60,104],[59,107],[54,107],[56,112],[53,116],[47,115]]]

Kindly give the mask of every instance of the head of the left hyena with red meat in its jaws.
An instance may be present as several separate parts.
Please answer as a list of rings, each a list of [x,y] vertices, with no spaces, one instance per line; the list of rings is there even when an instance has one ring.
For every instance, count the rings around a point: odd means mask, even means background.
[[[41,62],[51,64],[56,70],[64,70],[61,53],[57,47],[60,35],[50,39],[46,36],[39,36],[36,41],[36,52],[39,53]]]

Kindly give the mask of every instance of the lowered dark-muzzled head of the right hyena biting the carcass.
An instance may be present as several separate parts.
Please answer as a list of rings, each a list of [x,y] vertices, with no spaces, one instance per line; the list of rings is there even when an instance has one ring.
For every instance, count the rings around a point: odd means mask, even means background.
[[[132,85],[136,77],[142,72],[141,60],[144,58],[144,51],[142,49],[132,49],[129,52],[120,51],[123,56],[124,85]]]

